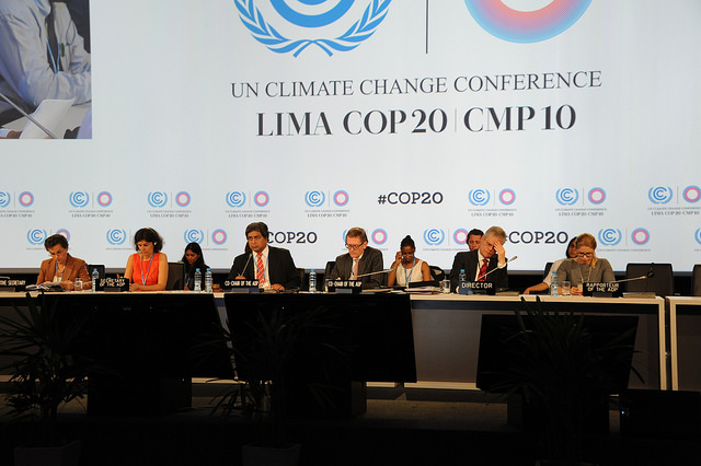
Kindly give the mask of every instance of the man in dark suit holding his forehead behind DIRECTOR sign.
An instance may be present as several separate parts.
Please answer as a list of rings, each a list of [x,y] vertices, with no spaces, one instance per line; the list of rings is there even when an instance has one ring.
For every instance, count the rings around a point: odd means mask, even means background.
[[[450,290],[458,288],[460,270],[464,270],[468,281],[487,281],[497,289],[508,289],[505,242],[506,232],[492,226],[484,233],[479,248],[456,254],[450,269]]]

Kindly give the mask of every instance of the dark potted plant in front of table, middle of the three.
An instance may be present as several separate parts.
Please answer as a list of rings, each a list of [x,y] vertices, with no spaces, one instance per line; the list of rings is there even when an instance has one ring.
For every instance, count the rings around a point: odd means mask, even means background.
[[[324,354],[340,354],[334,345],[320,338],[333,331],[333,325],[323,307],[301,312],[277,307],[244,314],[240,322],[230,323],[234,330],[221,328],[240,383],[219,394],[212,412],[228,417],[242,411],[255,423],[258,441],[243,446],[244,466],[295,465],[301,446],[290,442],[286,428],[290,392],[298,387],[292,387],[292,380],[304,361],[319,362]],[[206,343],[200,348],[221,347]],[[329,403],[323,383],[308,388],[321,406]]]

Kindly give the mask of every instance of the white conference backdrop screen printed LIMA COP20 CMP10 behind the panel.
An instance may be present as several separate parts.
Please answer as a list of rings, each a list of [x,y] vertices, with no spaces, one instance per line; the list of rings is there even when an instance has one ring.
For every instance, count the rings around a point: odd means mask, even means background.
[[[323,22],[346,3],[319,27],[275,8]],[[468,230],[498,224],[516,270],[582,232],[617,270],[691,270],[701,2],[504,0],[585,10],[559,34],[561,16],[536,11],[554,34],[536,42],[531,16],[502,27],[514,42],[494,35],[507,15],[475,20],[480,3],[501,2],[92,2],[93,139],[0,142],[0,268],[37,268],[56,232],[74,256],[124,267],[152,226],[171,260],[194,240],[225,269],[264,221],[306,268],[356,225],[386,263],[411,234],[449,268]]]

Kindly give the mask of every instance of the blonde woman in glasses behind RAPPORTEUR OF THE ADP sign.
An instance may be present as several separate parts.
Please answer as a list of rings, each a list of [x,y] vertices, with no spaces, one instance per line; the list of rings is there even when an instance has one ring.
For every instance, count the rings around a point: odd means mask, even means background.
[[[572,294],[582,294],[582,283],[602,283],[616,280],[607,259],[596,256],[596,238],[582,233],[576,241],[576,256],[564,260],[558,268],[558,282],[572,283]]]

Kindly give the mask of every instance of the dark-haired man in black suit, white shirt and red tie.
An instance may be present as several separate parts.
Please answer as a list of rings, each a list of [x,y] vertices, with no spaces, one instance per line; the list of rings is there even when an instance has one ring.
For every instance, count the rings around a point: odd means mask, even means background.
[[[289,251],[267,245],[268,230],[263,222],[245,228],[250,253],[233,259],[227,280],[258,280],[261,288],[289,290],[299,288],[299,271]]]

